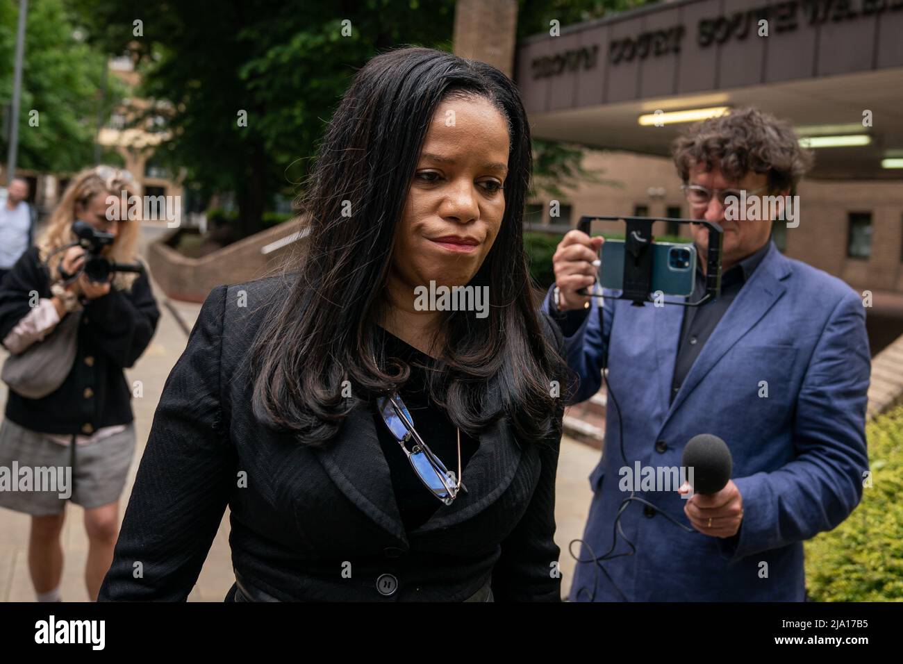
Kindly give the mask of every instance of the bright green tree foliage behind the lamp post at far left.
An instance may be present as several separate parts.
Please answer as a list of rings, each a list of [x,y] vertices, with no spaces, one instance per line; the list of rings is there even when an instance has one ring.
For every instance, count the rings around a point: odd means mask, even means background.
[[[0,106],[5,112],[13,98],[18,5],[0,2]],[[92,164],[98,117],[106,120],[124,92],[110,79],[104,97],[107,58],[77,41],[75,27],[63,0],[29,3],[18,123],[20,168],[67,173]],[[37,116],[30,115],[33,110]],[[38,126],[30,125],[31,117]],[[8,135],[0,136],[4,161],[8,140]]]

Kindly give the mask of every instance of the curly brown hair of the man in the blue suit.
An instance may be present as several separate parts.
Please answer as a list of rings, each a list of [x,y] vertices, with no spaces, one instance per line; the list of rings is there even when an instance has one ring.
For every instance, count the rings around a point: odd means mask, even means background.
[[[731,180],[766,173],[769,191],[791,194],[813,164],[813,154],[799,145],[790,123],[757,108],[695,123],[675,140],[672,155],[684,183],[696,164],[705,164],[706,171],[717,165]]]

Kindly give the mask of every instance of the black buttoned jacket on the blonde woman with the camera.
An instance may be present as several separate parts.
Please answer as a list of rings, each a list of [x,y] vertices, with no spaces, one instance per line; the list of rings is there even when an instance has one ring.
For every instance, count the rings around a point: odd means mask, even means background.
[[[0,341],[31,311],[30,304],[37,302],[33,292],[40,298],[52,296],[50,285],[38,248],[29,248],[0,285]],[[9,390],[6,416],[48,434],[89,435],[103,426],[128,424],[134,419],[132,390],[123,369],[134,365],[147,348],[159,318],[144,272],[130,289],[114,286],[107,295],[89,300],[79,324],[75,360],[60,388],[38,399]]]

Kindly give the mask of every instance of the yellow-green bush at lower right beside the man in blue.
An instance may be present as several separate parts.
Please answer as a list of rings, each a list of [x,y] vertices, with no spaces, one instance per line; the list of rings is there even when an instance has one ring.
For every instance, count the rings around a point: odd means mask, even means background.
[[[805,543],[818,602],[903,601],[903,407],[866,428],[872,486],[848,519]]]

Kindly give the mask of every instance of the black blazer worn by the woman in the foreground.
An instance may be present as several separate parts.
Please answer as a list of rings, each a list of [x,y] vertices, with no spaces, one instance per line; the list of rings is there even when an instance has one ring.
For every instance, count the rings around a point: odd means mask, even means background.
[[[405,533],[367,407],[325,449],[256,422],[242,360],[266,314],[259,303],[285,287],[271,277],[207,297],[163,388],[99,599],[184,600],[228,504],[232,563],[250,599],[462,601],[491,580],[496,601],[559,601],[560,435],[519,444],[503,418],[480,436],[469,492]]]

